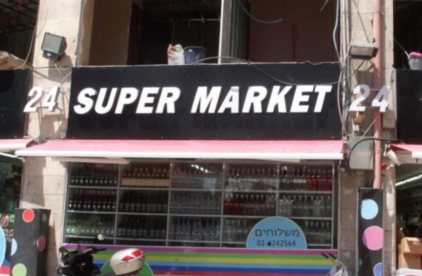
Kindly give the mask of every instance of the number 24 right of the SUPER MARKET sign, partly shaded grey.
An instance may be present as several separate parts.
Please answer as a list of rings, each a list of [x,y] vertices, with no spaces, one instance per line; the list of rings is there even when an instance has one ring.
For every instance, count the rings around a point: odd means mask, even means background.
[[[369,94],[371,93],[371,89],[366,84],[359,84],[358,86],[355,87],[355,89],[353,89],[353,94],[358,95],[360,94],[361,90],[363,91],[363,94],[352,102],[352,104],[350,105],[349,111],[357,111],[357,112],[365,111],[366,106],[360,106],[359,104],[368,98]],[[372,100],[371,105],[374,107],[379,107],[379,112],[385,112],[386,108],[388,107],[387,99],[388,99],[389,91],[390,91],[390,88],[387,85],[382,86],[382,88],[379,89],[378,94]]]

